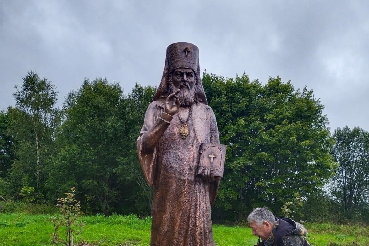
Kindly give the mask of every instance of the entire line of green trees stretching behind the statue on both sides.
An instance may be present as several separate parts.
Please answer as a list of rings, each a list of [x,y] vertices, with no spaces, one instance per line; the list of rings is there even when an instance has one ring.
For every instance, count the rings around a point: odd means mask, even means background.
[[[260,206],[278,213],[298,193],[295,219],[369,222],[368,132],[331,134],[313,90],[279,77],[205,72],[202,82],[227,144],[215,221],[242,221]],[[34,70],[15,89],[15,106],[0,113],[0,199],[55,205],[76,187],[85,212],[149,215],[135,141],[155,87],[136,83],[125,95],[119,83],[85,79],[62,108]]]

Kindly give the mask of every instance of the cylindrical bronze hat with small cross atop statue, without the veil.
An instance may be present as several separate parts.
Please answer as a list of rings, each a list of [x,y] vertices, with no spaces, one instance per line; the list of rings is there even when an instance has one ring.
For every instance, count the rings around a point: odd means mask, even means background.
[[[197,72],[199,64],[199,48],[190,43],[174,43],[166,48],[168,54],[169,73],[174,69],[183,67]]]

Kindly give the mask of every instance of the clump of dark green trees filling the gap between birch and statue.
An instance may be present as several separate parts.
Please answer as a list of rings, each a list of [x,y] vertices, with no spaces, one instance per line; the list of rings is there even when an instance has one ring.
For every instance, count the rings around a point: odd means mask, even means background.
[[[155,91],[136,84],[127,97],[118,83],[100,78],[85,79],[69,93],[56,135],[58,154],[49,166],[49,190],[77,186],[87,212],[147,213],[151,197],[147,185],[136,183],[143,176],[135,140]],[[57,194],[54,189],[48,196]]]

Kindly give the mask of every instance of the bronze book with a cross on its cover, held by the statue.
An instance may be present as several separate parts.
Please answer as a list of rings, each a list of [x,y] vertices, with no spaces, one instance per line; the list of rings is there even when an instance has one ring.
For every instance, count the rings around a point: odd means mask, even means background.
[[[197,174],[201,174],[207,167],[215,177],[223,177],[226,148],[225,144],[201,143]]]

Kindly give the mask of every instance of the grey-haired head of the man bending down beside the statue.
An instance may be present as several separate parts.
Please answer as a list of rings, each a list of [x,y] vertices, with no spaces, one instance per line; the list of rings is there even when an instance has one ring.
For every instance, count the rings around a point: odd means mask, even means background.
[[[255,208],[249,214],[247,221],[252,228],[252,234],[259,236],[262,240],[267,240],[276,224],[274,215],[268,208]]]

